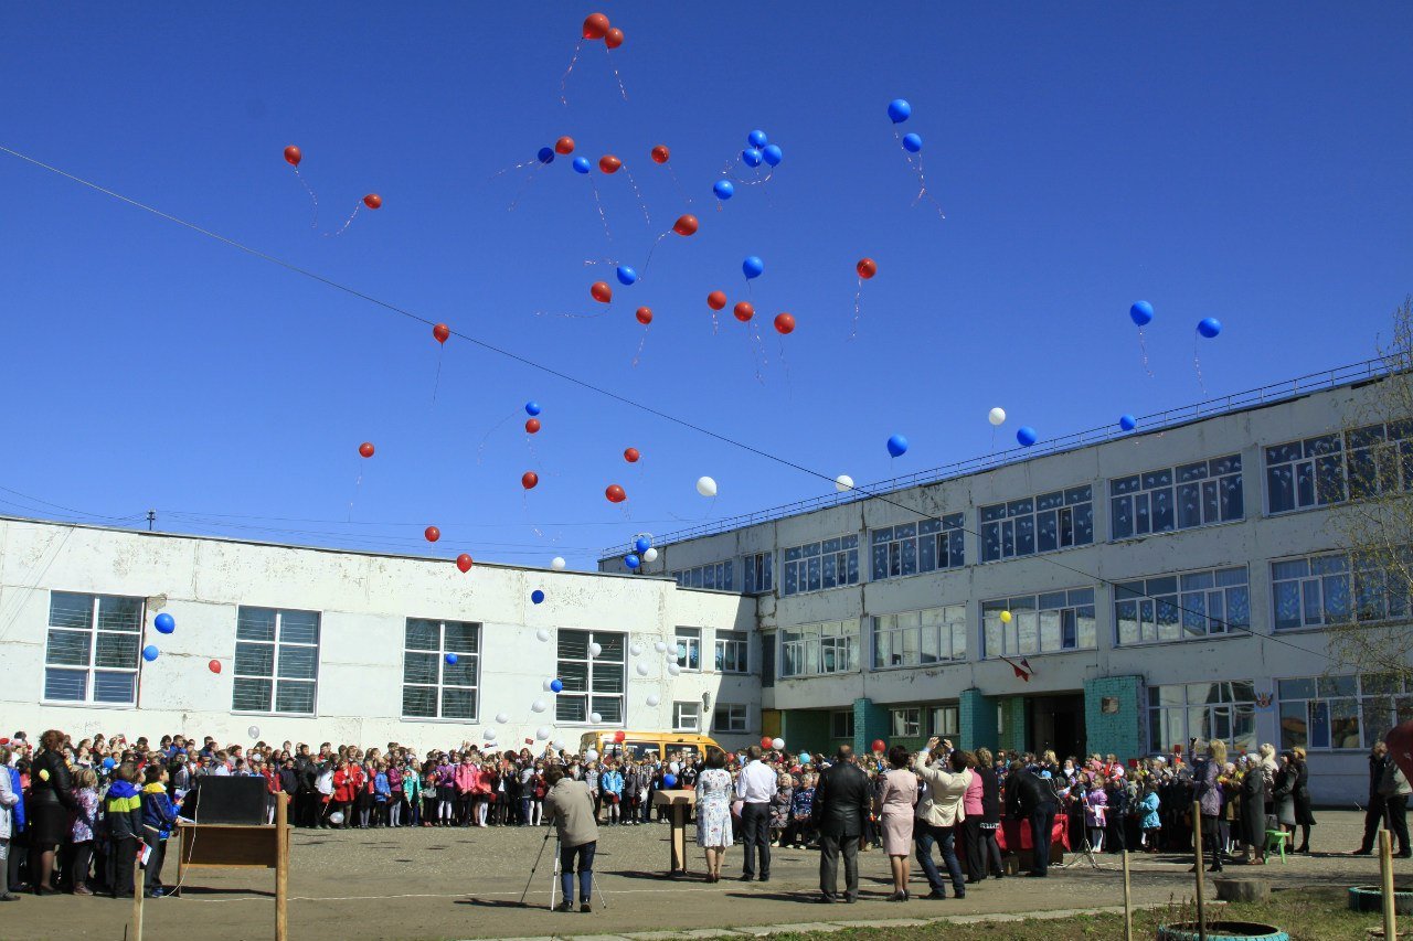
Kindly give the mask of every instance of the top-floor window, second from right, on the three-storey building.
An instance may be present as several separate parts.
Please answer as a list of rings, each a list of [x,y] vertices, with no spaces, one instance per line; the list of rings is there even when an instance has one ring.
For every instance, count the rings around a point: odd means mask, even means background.
[[[1239,520],[1246,511],[1241,455],[1109,480],[1109,507],[1115,540]]]

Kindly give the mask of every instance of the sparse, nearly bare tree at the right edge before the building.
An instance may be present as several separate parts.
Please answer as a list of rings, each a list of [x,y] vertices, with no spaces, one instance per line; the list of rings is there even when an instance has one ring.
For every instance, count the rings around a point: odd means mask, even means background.
[[[1388,374],[1344,431],[1348,503],[1332,523],[1349,551],[1348,623],[1330,632],[1344,671],[1413,684],[1413,295],[1379,350]]]

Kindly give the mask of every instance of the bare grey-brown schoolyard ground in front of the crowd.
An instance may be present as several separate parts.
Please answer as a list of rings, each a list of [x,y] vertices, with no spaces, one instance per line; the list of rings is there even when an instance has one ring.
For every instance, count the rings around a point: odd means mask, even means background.
[[[1231,875],[1256,875],[1275,886],[1352,886],[1378,882],[1375,858],[1348,856],[1358,846],[1362,815],[1318,814],[1313,856],[1293,856]],[[681,880],[660,873],[667,866],[666,825],[606,827],[601,832],[598,889],[592,914],[547,911],[554,842],[524,892],[544,829],[420,828],[396,831],[295,831],[290,876],[290,934],[295,941],[442,941],[592,935],[709,937],[798,931],[804,925],[859,925],[890,920],[933,920],[957,916],[1016,916],[1122,904],[1116,856],[1101,855],[1102,869],[1082,859],[1051,869],[1048,879],[986,880],[968,887],[962,900],[886,901],[887,858],[862,853],[863,893],[856,904],[824,906],[818,896],[818,855],[777,849],[769,883],[735,879],[709,884],[694,872]],[[726,868],[740,872],[740,848]],[[1140,904],[1161,904],[1193,892],[1191,858],[1135,856],[1133,894]],[[1397,876],[1413,876],[1413,863],[1396,860]],[[164,870],[175,882],[175,865]],[[927,884],[916,870],[914,896]],[[0,907],[0,937],[31,941],[124,937],[131,900],[75,896],[34,897]],[[179,899],[148,900],[144,937],[201,937],[202,941],[264,941],[274,937],[273,870],[192,870]],[[971,918],[968,918],[971,920]],[[690,937],[690,935],[688,935]]]

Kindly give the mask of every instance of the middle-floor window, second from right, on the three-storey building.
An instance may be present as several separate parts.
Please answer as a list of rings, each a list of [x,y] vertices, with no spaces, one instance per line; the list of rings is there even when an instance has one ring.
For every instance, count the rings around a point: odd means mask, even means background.
[[[1113,625],[1121,644],[1243,633],[1251,629],[1246,567],[1121,582]]]

